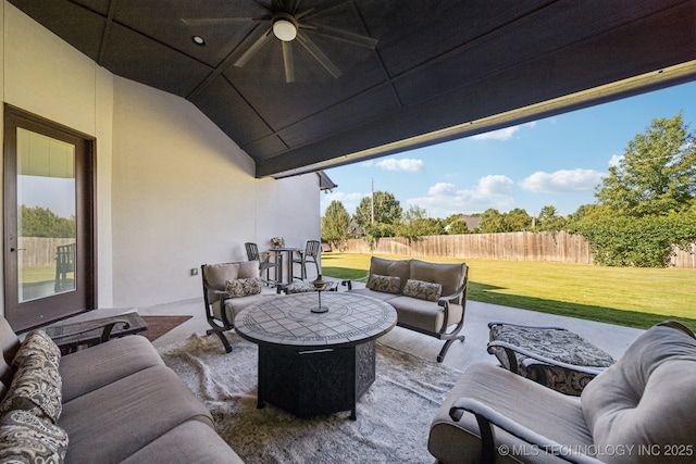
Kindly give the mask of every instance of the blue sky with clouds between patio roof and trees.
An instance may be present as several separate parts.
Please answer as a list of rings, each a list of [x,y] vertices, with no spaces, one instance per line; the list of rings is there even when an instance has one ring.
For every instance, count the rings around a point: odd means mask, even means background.
[[[595,186],[654,118],[682,113],[696,128],[696,83],[592,106],[395,155],[326,170],[338,185],[321,195],[322,215],[332,200],[353,214],[374,189],[393,193],[403,211],[418,205],[430,217],[508,212],[559,214],[595,202]]]

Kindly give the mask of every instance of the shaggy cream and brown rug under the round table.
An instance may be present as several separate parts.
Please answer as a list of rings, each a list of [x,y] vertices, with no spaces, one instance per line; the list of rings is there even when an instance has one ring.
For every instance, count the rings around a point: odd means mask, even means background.
[[[248,464],[432,463],[430,424],[461,373],[377,343],[376,380],[350,412],[309,419],[257,409],[257,346],[227,333],[191,335],[162,359],[211,411],[217,432]]]

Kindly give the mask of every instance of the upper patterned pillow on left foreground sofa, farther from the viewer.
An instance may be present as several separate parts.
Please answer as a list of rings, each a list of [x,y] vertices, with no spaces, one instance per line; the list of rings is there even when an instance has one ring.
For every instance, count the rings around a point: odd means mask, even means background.
[[[18,358],[12,384],[0,403],[0,412],[24,410],[53,424],[58,422],[63,411],[63,384],[53,358],[41,350]]]

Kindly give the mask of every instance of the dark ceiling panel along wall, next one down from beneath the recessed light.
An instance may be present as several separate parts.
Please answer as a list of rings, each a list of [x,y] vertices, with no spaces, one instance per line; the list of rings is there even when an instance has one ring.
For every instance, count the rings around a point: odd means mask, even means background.
[[[268,124],[223,76],[212,79],[190,100],[240,147],[272,135]]]

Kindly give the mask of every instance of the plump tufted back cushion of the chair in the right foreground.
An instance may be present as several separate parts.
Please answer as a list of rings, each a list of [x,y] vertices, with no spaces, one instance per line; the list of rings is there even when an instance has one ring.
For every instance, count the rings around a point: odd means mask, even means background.
[[[667,326],[641,335],[613,366],[587,384],[581,397],[599,449],[658,446],[657,456],[627,457],[661,463],[684,462],[683,455],[667,455],[666,446],[696,450],[695,399],[696,339]]]

